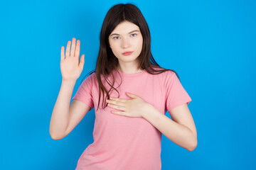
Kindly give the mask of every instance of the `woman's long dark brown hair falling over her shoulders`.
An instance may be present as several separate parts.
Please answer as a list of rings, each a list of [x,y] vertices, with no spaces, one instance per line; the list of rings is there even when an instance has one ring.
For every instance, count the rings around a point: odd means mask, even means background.
[[[146,72],[148,72],[149,74],[161,74],[162,72],[171,71],[174,72],[178,77],[178,74],[174,70],[164,69],[160,67],[159,64],[157,64],[156,61],[154,60],[154,57],[151,54],[151,36],[149,32],[149,26],[147,25],[146,20],[142,15],[142,12],[139,10],[139,8],[134,4],[114,5],[110,8],[109,11],[107,11],[105,19],[102,23],[102,28],[100,31],[100,50],[97,57],[96,69],[90,72],[90,74],[95,72],[99,84],[99,101],[97,109],[100,106],[101,92],[103,94],[103,98],[105,98],[106,93],[106,100],[110,99],[109,92],[111,91],[111,89],[117,91],[117,89],[114,88],[115,80],[114,75],[112,74],[112,70],[117,69],[118,59],[114,56],[110,48],[109,36],[114,30],[114,28],[116,28],[117,25],[119,23],[122,23],[123,21],[129,21],[139,26],[142,33],[143,45],[142,52],[140,53],[137,59],[139,61],[138,69],[145,69]],[[106,79],[107,75],[110,75],[112,77],[112,84],[110,84],[109,80]],[[107,84],[111,86],[111,89],[109,91],[107,91],[105,86],[103,86],[100,77],[104,77]],[[178,79],[180,78],[178,77]],[[119,95],[118,91],[117,93]],[[106,103],[105,100],[104,103]],[[107,107],[107,105],[104,106],[104,104],[102,103],[102,107],[105,108]]]

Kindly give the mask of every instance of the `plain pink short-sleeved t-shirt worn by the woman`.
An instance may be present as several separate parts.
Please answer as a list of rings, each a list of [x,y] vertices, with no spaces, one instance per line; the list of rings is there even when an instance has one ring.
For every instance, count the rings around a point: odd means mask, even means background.
[[[122,76],[122,84],[120,77]],[[165,114],[176,106],[191,102],[176,74],[167,71],[161,74],[149,74],[146,70],[136,74],[125,74],[113,70],[119,91],[119,98],[130,99],[125,92],[135,94]],[[111,77],[109,77],[110,80]],[[103,78],[102,78],[103,80]],[[110,86],[102,81],[107,90]],[[117,91],[111,91],[111,97],[118,97]],[[161,132],[144,118],[132,118],[116,115],[114,108],[97,111],[99,90],[95,72],[80,85],[73,97],[95,107],[94,142],[80,156],[76,170],[159,170],[161,169]]]

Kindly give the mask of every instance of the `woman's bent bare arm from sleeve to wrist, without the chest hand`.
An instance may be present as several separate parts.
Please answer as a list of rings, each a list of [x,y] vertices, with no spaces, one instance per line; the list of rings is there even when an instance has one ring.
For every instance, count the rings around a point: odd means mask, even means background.
[[[149,105],[148,111],[142,117],[177,145],[193,151],[197,146],[196,126],[187,104],[177,106],[169,111],[171,118],[160,113]]]

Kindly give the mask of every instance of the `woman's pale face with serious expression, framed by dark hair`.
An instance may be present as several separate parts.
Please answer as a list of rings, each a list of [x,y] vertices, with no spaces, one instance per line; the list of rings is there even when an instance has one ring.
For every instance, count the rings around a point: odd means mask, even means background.
[[[137,64],[137,57],[142,52],[143,38],[137,25],[129,21],[119,23],[110,33],[110,48],[119,64],[124,62],[134,62]],[[132,53],[124,53],[132,52]]]

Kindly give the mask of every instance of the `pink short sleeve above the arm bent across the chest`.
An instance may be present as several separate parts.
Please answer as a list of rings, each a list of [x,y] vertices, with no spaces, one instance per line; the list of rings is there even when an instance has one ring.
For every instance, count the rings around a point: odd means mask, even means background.
[[[181,81],[179,81],[175,72],[169,72],[166,76],[165,88],[166,88],[166,111],[176,108],[185,103],[190,103],[191,97],[183,88]]]

